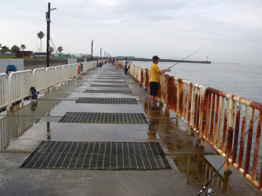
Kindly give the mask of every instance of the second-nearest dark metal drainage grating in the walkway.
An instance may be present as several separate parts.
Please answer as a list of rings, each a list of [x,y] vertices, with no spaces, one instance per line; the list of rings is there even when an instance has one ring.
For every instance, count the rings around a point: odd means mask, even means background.
[[[67,112],[59,122],[67,123],[148,123],[144,113]]]

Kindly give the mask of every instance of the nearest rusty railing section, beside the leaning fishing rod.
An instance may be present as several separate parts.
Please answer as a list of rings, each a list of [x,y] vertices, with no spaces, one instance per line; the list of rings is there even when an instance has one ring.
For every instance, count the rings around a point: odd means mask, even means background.
[[[241,107],[243,106],[242,113]],[[257,110],[257,113],[255,112]],[[225,171],[233,165],[240,171],[250,182],[261,190],[262,173],[259,171],[260,181],[256,181],[259,144],[261,134],[262,104],[238,97],[220,90],[207,88],[204,96],[204,116],[202,138],[219,152],[225,159],[236,148],[232,157],[225,164]],[[248,120],[249,112],[249,120]],[[258,117],[256,128],[254,130],[255,115]],[[259,116],[258,116],[259,115]],[[247,123],[249,124],[247,126]],[[240,135],[239,135],[239,129]],[[248,132],[247,142],[243,139],[237,148],[237,144],[244,134]],[[255,138],[253,138],[253,131]],[[261,158],[260,158],[261,167]],[[250,165],[250,162],[252,166]],[[251,174],[249,174],[249,170]]]

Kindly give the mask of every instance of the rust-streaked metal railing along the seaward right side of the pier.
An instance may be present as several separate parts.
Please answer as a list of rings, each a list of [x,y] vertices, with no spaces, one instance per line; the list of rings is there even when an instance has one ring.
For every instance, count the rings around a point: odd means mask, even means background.
[[[150,69],[130,64],[129,72],[150,90]],[[204,90],[200,84],[193,85],[190,81],[166,74],[160,76],[157,98],[166,105],[167,112],[173,111],[187,124],[189,134],[197,135],[196,142],[199,146],[208,142],[225,160],[236,148],[226,161],[224,171],[230,172],[230,164],[233,165],[262,191],[262,152],[259,152],[261,103],[212,88]],[[243,139],[237,148],[248,130],[247,138]],[[253,134],[255,138],[252,137]]]

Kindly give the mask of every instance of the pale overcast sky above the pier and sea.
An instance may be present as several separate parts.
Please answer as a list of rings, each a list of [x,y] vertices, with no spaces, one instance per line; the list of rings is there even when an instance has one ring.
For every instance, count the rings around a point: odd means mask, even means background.
[[[64,53],[262,65],[261,0],[0,0],[0,43],[40,47],[37,32]],[[51,43],[50,43],[51,45]],[[42,39],[46,51],[46,36]],[[201,50],[205,48],[204,50]]]

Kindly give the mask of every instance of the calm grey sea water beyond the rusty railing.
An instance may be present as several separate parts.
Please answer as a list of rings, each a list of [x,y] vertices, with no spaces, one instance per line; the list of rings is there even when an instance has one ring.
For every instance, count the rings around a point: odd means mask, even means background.
[[[133,61],[133,64],[149,68],[152,62]],[[159,62],[159,68],[165,69],[175,62]],[[177,78],[188,80],[192,84],[201,84],[204,89],[211,87],[245,99],[262,103],[262,65],[229,63],[177,63],[166,72]]]

